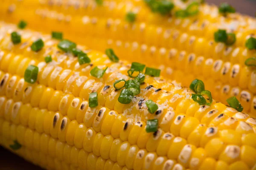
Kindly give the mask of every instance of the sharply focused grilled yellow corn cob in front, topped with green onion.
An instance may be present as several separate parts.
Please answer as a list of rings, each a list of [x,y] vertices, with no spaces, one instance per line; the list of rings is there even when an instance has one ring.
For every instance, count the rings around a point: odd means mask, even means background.
[[[146,76],[141,93],[130,104],[117,101],[116,79],[129,79],[126,61],[111,62],[87,52],[91,64],[60,51],[57,40],[31,31],[13,45],[14,26],[1,23],[0,144],[25,159],[57,170],[249,170],[256,167],[256,119],[221,103],[199,105],[192,91],[162,77]],[[6,34],[6,35],[5,35]],[[41,37],[39,52],[30,45]],[[45,63],[44,57],[52,56]],[[28,65],[37,65],[34,84],[24,81]],[[103,78],[89,74],[93,65],[108,66]],[[88,107],[91,92],[99,105]],[[145,101],[158,105],[154,114]],[[158,119],[154,133],[146,121]]]

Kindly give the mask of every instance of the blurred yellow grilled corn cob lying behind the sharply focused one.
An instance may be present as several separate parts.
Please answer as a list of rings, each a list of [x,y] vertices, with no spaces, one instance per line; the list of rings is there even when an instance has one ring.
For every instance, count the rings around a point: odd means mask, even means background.
[[[175,1],[176,8],[185,4]],[[121,59],[159,65],[163,76],[184,86],[202,79],[216,100],[225,103],[237,96],[244,111],[256,114],[256,71],[244,65],[256,54],[245,46],[256,32],[251,17],[224,17],[216,6],[203,4],[198,15],[180,19],[152,13],[143,0],[105,0],[102,6],[94,0],[11,0],[0,8],[2,20],[23,19],[30,28],[47,33],[58,29],[65,38],[101,51],[111,47]],[[134,23],[125,21],[128,11],[137,13]],[[235,44],[215,42],[218,28],[234,32]]]

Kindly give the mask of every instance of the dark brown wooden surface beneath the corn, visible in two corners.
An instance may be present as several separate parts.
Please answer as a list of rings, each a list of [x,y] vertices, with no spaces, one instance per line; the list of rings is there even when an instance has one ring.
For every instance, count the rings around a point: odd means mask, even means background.
[[[256,0],[206,0],[208,3],[229,2],[236,10],[242,14],[255,16],[256,13]],[[42,170],[24,161],[22,158],[0,147],[0,170]]]

